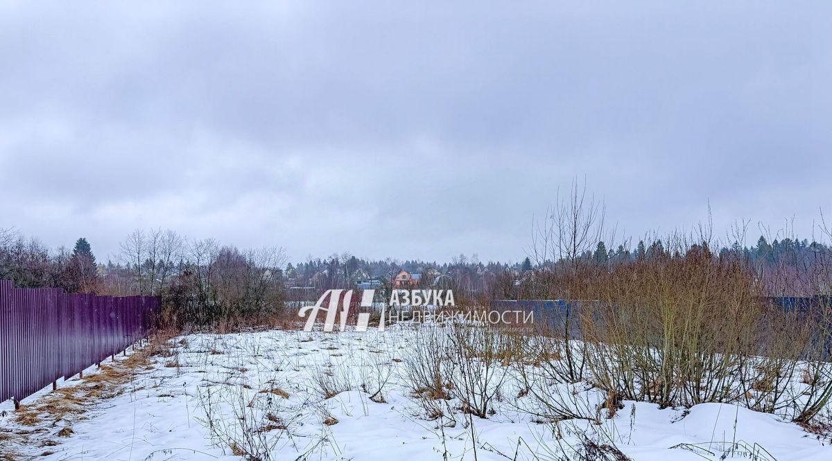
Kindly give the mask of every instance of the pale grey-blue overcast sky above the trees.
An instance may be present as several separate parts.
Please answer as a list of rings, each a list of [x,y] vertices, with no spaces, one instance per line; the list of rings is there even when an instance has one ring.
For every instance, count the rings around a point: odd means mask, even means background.
[[[0,2],[0,228],[516,261],[586,176],[620,233],[808,234],[832,3],[720,3]]]

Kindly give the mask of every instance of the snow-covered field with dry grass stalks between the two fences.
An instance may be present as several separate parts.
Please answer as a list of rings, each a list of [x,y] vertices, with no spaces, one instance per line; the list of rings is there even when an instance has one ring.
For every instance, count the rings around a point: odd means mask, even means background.
[[[33,396],[23,402],[28,419],[4,404],[0,449],[9,459],[14,451],[17,459],[129,461],[832,459],[828,440],[772,414],[630,401],[611,412],[605,393],[584,383],[544,383],[548,397],[586,415],[547,419],[541,388],[529,391],[506,364],[468,369],[489,376],[468,382],[486,388],[484,403],[469,402],[483,404],[483,419],[463,411],[455,392],[417,394],[418,367],[430,365],[424,355],[439,352],[424,338],[444,334],[432,330],[174,338],[150,360],[118,358],[106,367],[111,380],[62,383],[64,400]],[[95,400],[70,405],[92,390]]]

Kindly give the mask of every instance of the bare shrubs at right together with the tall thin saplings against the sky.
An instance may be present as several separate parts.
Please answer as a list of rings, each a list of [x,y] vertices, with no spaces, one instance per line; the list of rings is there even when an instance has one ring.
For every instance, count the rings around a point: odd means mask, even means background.
[[[544,413],[582,416],[547,392],[583,380],[608,399],[737,403],[804,423],[828,405],[830,309],[790,312],[766,295],[771,287],[804,292],[807,281],[815,292],[832,292],[832,264],[824,270],[832,258],[806,264],[810,274],[795,261],[761,277],[739,244],[711,253],[707,227],[640,243],[632,257],[622,243],[617,254],[624,257],[616,258],[601,241],[602,226],[602,205],[573,184],[535,233],[537,270],[522,292],[566,306],[542,319],[518,368],[523,392]],[[743,232],[737,228],[736,241]],[[801,373],[804,383],[795,385]]]

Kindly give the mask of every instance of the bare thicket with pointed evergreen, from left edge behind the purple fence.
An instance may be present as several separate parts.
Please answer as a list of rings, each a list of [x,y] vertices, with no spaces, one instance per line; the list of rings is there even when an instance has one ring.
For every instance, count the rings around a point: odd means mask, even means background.
[[[52,251],[35,238],[0,229],[0,280],[66,292],[159,296],[166,319],[180,328],[279,321],[285,262],[281,248],[240,250],[151,229],[131,233],[116,262],[97,265],[85,238],[72,251]]]

